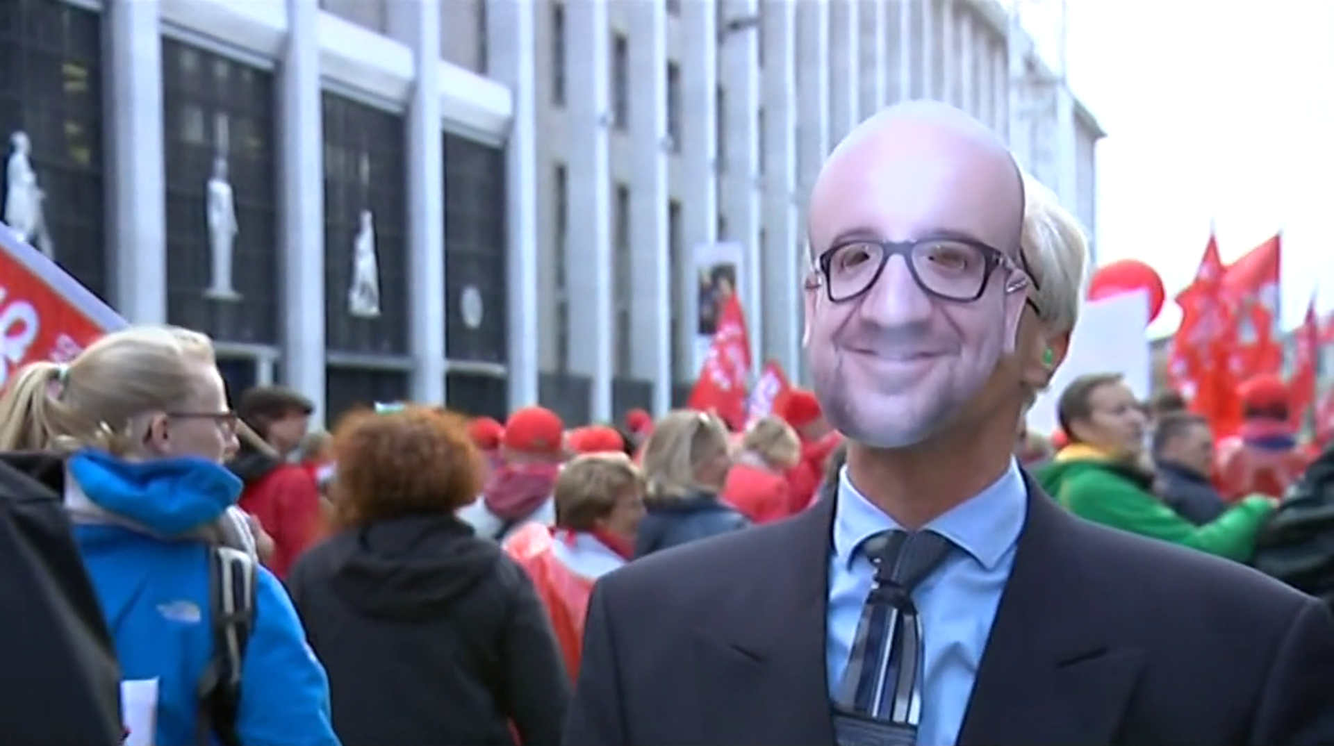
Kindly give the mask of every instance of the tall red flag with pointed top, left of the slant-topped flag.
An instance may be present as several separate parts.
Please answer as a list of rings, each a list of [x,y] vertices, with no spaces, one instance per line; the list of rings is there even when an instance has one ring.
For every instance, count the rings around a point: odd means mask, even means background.
[[[1227,435],[1241,423],[1233,355],[1235,326],[1231,304],[1223,291],[1223,262],[1218,239],[1210,234],[1195,280],[1181,294],[1181,328],[1173,338],[1169,375],[1173,386],[1191,402],[1191,408],[1209,419],[1215,434]]]

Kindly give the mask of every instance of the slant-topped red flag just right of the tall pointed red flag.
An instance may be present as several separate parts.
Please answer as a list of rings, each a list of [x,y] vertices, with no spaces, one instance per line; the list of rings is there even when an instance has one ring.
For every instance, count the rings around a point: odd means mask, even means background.
[[[1223,288],[1235,306],[1237,346],[1246,378],[1283,368],[1278,300],[1282,258],[1282,235],[1274,234],[1230,264],[1223,275]]]

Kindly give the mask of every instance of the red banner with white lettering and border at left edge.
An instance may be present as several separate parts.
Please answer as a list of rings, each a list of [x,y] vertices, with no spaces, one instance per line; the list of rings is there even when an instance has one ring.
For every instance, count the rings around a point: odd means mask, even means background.
[[[125,319],[0,224],[0,387],[24,363],[71,360]]]

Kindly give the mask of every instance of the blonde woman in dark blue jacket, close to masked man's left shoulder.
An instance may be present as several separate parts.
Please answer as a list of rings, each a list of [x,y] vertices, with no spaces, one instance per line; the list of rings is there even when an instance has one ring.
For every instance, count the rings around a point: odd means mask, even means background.
[[[750,526],[719,498],[731,468],[731,438],[723,420],[686,410],[658,420],[644,444],[648,514],[639,523],[635,555]]]

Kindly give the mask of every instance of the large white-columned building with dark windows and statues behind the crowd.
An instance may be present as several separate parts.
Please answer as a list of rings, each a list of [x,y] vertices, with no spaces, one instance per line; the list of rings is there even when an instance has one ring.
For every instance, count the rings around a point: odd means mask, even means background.
[[[1102,132],[995,0],[5,8],[0,132],[32,140],[57,260],[133,322],[213,334],[233,387],[329,414],[664,410],[694,376],[683,263],[720,239],[755,268],[756,359],[798,375],[803,194],[904,97],[1007,132],[1094,228]],[[237,298],[209,290],[219,160]]]

